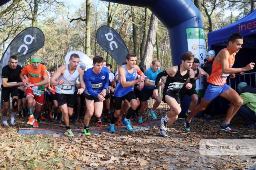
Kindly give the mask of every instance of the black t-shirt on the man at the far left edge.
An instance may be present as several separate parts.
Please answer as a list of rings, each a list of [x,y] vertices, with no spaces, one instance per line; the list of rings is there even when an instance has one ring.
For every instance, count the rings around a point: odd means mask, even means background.
[[[2,69],[2,78],[8,78],[7,82],[18,82],[21,69],[22,67],[20,65],[17,65],[14,70],[9,65],[6,65]]]

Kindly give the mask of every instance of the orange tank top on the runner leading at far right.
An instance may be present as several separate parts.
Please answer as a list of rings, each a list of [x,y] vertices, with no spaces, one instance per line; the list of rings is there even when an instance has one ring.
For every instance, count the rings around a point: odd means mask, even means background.
[[[227,48],[225,48],[227,50]],[[229,68],[233,66],[235,62],[235,55],[228,57]],[[215,60],[212,64],[212,74],[209,76],[207,82],[216,86],[222,86],[226,84],[226,80],[229,74],[223,74],[223,70],[220,63],[217,63]]]

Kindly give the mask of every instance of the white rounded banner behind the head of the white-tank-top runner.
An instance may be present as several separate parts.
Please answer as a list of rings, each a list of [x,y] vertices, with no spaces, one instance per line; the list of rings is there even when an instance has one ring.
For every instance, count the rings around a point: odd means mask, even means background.
[[[66,64],[69,64],[70,56],[71,56],[72,54],[74,54],[74,53],[77,54],[77,55],[79,55],[79,57],[80,57],[79,66],[80,66],[81,63],[84,63],[84,64],[86,65],[85,70],[87,70],[88,68],[92,68],[92,67],[93,67],[93,66],[92,66],[92,59],[90,59],[90,57],[88,57],[88,55],[82,53],[81,51],[70,51],[70,52],[66,55],[66,57],[65,57],[65,63],[66,63]]]

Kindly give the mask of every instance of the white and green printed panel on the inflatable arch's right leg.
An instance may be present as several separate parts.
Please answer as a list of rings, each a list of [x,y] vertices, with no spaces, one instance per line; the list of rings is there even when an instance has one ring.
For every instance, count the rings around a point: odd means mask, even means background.
[[[188,51],[194,53],[201,63],[206,58],[206,42],[204,37],[204,30],[202,28],[187,28]],[[204,76],[196,80],[196,90],[204,89]],[[199,93],[201,94],[201,93]],[[199,95],[199,97],[202,97]]]

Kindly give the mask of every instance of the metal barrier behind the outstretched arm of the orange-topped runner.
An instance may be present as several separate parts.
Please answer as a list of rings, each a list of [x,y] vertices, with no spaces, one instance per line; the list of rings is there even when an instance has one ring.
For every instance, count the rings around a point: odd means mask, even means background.
[[[256,88],[256,72],[244,73],[244,75],[236,74],[235,78],[229,78],[229,86],[237,91],[240,82],[246,82],[248,85]]]

